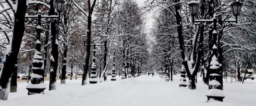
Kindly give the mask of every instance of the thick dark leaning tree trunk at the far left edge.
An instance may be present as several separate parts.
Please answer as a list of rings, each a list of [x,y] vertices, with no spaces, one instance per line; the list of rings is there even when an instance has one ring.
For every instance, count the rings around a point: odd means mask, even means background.
[[[17,1],[17,0],[16,0]],[[6,2],[9,2],[6,0]],[[18,0],[17,8],[14,13],[14,26],[12,42],[6,51],[6,61],[0,72],[0,100],[7,100],[10,86],[9,79],[12,71],[15,70],[14,66],[17,63],[18,53],[20,50],[20,44],[25,30],[25,13],[27,9],[26,0]]]

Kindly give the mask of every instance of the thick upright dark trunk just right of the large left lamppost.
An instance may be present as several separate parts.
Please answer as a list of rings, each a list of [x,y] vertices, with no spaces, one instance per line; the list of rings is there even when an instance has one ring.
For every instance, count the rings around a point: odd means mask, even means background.
[[[55,15],[54,0],[50,0],[50,15]],[[56,31],[56,21],[51,22],[51,57],[50,57],[50,82],[49,90],[56,90],[56,77],[58,69],[58,35]]]

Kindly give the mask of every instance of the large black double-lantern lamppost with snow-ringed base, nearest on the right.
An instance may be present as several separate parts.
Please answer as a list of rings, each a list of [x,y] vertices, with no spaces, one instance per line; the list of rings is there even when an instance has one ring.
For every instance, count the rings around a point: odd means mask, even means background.
[[[217,53],[217,47],[216,47],[216,40],[217,40],[217,36],[218,36],[218,32],[217,30],[222,30],[223,26],[218,24],[218,28],[217,28],[217,22],[228,22],[230,24],[230,22],[236,22],[237,23],[237,16],[240,14],[241,8],[242,8],[242,3],[240,2],[234,2],[232,3],[231,9],[233,12],[233,15],[236,17],[236,20],[217,20],[216,17],[213,17],[213,20],[194,20],[194,16],[196,16],[199,4],[196,1],[191,1],[190,3],[188,3],[189,9],[190,9],[190,14],[192,16],[192,22],[198,22],[200,23],[200,25],[202,25],[204,22],[207,23],[213,23],[212,24],[206,24],[206,28],[209,31],[212,31],[212,42],[210,45],[210,48],[212,48],[212,54],[210,56],[211,62],[210,62],[210,82],[209,82],[209,90],[206,93],[206,96],[208,98],[208,100],[210,100],[210,98],[215,98],[217,100],[222,101],[224,96],[224,92],[222,91],[222,86],[223,86],[223,81],[222,81],[222,71],[220,70],[220,64],[218,62],[218,59],[216,58],[218,56]],[[229,16],[228,16],[229,17]],[[227,17],[227,18],[228,18]],[[203,25],[202,25],[203,26]],[[220,53],[222,54],[222,53]]]

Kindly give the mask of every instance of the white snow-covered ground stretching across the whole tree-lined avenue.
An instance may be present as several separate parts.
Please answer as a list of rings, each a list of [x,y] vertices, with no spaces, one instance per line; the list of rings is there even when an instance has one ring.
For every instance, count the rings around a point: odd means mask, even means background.
[[[256,106],[256,80],[244,84],[224,82],[223,102],[205,96],[208,86],[198,78],[196,90],[179,88],[179,76],[165,82],[158,76],[140,76],[81,86],[81,79],[58,81],[57,90],[27,95],[26,83],[18,84],[18,92],[10,93],[0,106]],[[45,82],[46,86],[49,82]]]

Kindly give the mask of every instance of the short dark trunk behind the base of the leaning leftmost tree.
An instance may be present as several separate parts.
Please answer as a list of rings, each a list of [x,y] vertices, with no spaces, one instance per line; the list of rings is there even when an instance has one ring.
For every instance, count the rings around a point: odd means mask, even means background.
[[[10,92],[17,92],[17,70],[18,70],[18,65],[16,63],[14,70],[12,72]]]

